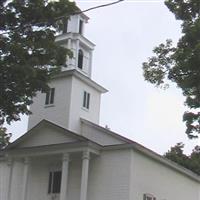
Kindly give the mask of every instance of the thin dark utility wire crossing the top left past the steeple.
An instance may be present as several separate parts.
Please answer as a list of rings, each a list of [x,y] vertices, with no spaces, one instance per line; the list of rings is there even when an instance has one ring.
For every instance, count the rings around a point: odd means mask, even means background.
[[[55,21],[59,21],[59,20],[65,18],[65,17],[70,17],[72,15],[78,15],[78,14],[85,13],[85,12],[88,12],[88,11],[91,11],[91,10],[95,10],[95,9],[98,9],[98,8],[103,8],[103,7],[111,6],[111,5],[114,5],[114,4],[118,4],[118,3],[122,2],[122,1],[125,1],[125,0],[118,0],[118,1],[111,2],[111,3],[102,4],[102,5],[99,5],[99,6],[94,6],[94,7],[85,9],[83,11],[81,11],[81,10],[80,11],[76,11],[76,12],[73,12],[73,13],[67,15],[67,16],[66,15],[60,16],[60,17],[56,18]],[[41,26],[41,25],[46,25],[46,24],[48,24],[48,22],[39,22],[39,23],[33,24],[32,26]],[[26,26],[28,27],[30,25],[24,25],[24,27],[26,27]],[[22,28],[22,27],[16,27],[16,28],[13,28],[12,30],[18,30],[20,28]],[[4,32],[0,33],[0,35],[7,34],[8,32],[9,32],[9,30],[8,31],[4,31]]]

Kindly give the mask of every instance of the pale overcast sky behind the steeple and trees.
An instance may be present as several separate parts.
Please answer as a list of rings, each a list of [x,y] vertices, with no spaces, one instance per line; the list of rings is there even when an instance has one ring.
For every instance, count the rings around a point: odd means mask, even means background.
[[[110,1],[76,1],[81,9]],[[161,0],[126,0],[85,13],[85,36],[96,44],[92,79],[109,90],[102,96],[100,124],[163,154],[177,142],[186,152],[199,140],[186,137],[186,108],[175,86],[160,90],[144,81],[142,62],[152,49],[180,37],[180,22]],[[10,127],[13,139],[26,131],[27,119]]]

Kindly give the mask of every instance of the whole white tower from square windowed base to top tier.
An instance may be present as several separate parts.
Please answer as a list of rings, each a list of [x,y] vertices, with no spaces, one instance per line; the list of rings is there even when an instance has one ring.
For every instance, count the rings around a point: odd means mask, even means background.
[[[30,106],[30,130],[46,119],[81,134],[81,118],[99,123],[101,94],[105,88],[91,79],[94,44],[84,36],[89,18],[81,13],[64,22],[56,42],[73,53],[60,74],[49,82],[47,93],[38,92]]]

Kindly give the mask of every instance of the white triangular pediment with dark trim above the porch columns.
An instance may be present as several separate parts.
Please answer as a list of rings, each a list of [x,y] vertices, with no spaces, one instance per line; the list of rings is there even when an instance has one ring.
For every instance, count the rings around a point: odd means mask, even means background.
[[[25,148],[47,146],[52,144],[75,143],[86,139],[65,128],[62,128],[47,120],[39,124],[17,139],[7,148]]]

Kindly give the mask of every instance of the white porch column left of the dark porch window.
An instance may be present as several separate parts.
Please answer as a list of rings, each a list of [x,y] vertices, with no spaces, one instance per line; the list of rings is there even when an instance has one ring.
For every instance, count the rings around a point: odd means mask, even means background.
[[[29,158],[24,159],[24,173],[23,173],[23,185],[22,185],[22,200],[27,198],[27,184],[28,184],[28,173],[29,173]]]

